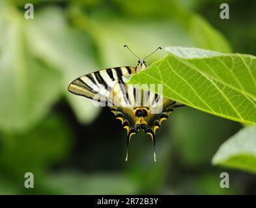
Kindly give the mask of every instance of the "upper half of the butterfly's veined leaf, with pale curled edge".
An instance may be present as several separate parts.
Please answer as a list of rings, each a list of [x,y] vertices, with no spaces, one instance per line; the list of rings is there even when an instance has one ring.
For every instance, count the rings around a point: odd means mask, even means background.
[[[184,64],[234,90],[256,98],[256,57],[239,53],[219,53],[197,48],[167,47],[166,51],[184,59]]]

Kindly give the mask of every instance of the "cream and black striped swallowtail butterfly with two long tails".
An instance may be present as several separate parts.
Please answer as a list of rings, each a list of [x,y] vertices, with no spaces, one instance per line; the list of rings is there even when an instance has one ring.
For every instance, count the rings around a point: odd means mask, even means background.
[[[127,45],[129,51],[135,55]],[[152,55],[154,52],[150,53]],[[149,57],[148,55],[147,57]],[[135,55],[137,57],[137,55]],[[101,106],[109,107],[115,118],[121,120],[122,127],[127,130],[126,161],[132,135],[139,129],[149,134],[154,145],[154,161],[156,161],[156,129],[166,120],[173,109],[182,107],[181,103],[165,98],[162,94],[141,90],[128,85],[130,77],[147,68],[145,59],[140,59],[137,66],[120,66],[107,68],[78,77],[70,83],[68,91],[78,96],[92,99]]]

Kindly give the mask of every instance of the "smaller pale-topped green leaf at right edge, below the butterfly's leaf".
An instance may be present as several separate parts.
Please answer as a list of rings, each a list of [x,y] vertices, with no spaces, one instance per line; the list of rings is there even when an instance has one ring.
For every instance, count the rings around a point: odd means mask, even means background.
[[[256,174],[256,126],[240,130],[223,143],[212,164],[246,170]]]

